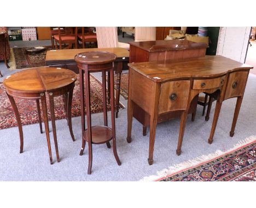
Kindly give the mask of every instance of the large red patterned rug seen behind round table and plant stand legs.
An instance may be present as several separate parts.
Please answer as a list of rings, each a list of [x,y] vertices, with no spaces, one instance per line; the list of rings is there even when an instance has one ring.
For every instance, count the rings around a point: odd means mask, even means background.
[[[92,113],[101,113],[103,112],[102,106],[102,84],[98,79],[91,75],[90,79],[91,84],[91,112]],[[16,105],[19,109],[20,118],[22,125],[35,124],[39,123],[36,100],[27,100],[27,99],[16,99]],[[47,97],[48,105],[48,118],[50,117],[50,105]],[[123,109],[124,106],[120,103],[120,109]],[[43,119],[42,105],[41,108],[41,117]],[[63,119],[66,118],[64,103],[62,96],[54,97],[54,109],[55,109],[55,118]],[[108,111],[110,111],[110,105],[107,105]],[[72,100],[72,117],[80,116],[80,89],[79,89],[79,77],[75,82],[75,87],[73,91],[73,100]],[[86,106],[85,106],[86,112]],[[15,114],[13,107],[5,93],[5,88],[3,83],[0,83],[0,129],[7,129],[9,127],[17,126]]]

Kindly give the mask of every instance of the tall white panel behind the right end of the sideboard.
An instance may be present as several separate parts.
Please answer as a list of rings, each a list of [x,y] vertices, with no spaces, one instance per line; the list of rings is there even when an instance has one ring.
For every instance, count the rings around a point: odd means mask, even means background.
[[[251,27],[220,27],[217,55],[244,63]]]

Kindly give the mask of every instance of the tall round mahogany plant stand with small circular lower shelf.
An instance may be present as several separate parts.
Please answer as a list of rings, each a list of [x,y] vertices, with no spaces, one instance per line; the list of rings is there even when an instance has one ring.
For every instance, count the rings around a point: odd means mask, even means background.
[[[109,141],[113,139],[113,152],[118,165],[121,165],[117,154],[117,145],[115,141],[115,98],[114,98],[114,60],[117,56],[113,53],[95,51],[79,53],[75,56],[79,68],[80,82],[80,102],[82,117],[82,149],[80,155],[83,155],[85,143],[89,146],[89,165],[88,174],[91,174],[92,167],[92,144],[106,143],[110,148]],[[103,92],[103,117],[104,126],[91,126],[91,102],[90,102],[90,72],[102,72],[102,92]],[[106,89],[106,71],[110,71],[110,105],[112,128],[108,127],[107,118],[107,89]],[[84,111],[84,74],[85,74],[85,95],[86,95],[86,117],[87,130],[85,130],[85,111]]]

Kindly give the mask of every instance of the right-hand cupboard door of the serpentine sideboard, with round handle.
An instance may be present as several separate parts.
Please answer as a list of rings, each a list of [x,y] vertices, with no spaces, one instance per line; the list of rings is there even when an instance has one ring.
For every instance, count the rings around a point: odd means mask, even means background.
[[[249,70],[236,71],[229,74],[228,83],[226,84],[224,100],[229,99],[231,97],[243,95],[246,87],[248,74]]]

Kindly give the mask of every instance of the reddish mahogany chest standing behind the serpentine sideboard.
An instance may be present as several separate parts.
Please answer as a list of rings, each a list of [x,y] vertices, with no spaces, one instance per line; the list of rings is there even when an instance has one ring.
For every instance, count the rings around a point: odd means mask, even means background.
[[[156,40],[129,42],[130,58],[129,63],[152,62],[161,60],[181,60],[188,58],[204,57],[205,43],[196,43],[188,40]],[[139,90],[139,89],[138,89]],[[189,113],[192,113],[192,120],[195,118],[198,96],[191,102]],[[135,103],[133,116],[143,125],[143,136],[146,136],[147,126],[150,124],[150,116]],[[159,116],[158,122],[181,116],[180,112],[170,112]]]

